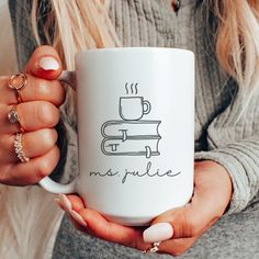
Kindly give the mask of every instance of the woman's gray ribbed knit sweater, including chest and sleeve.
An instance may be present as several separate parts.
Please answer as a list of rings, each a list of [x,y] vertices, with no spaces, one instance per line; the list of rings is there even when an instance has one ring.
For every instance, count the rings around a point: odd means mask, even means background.
[[[35,48],[26,2],[10,0],[20,68]],[[228,213],[240,212],[259,200],[259,91],[240,113],[244,98],[216,60],[205,1],[181,2],[176,15],[166,0],[112,0],[110,18],[124,46],[180,47],[194,52],[195,159],[214,160],[227,169],[234,185]],[[71,101],[70,94],[66,102]],[[63,114],[68,136],[64,173],[70,176],[77,169],[76,121],[67,104]]]

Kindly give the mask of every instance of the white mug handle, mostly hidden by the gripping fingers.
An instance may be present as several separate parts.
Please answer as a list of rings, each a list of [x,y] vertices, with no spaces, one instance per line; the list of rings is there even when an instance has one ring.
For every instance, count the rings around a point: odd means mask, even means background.
[[[76,90],[76,74],[75,74],[75,71],[63,71],[61,75],[59,76],[58,80],[67,83],[69,87],[71,87],[74,90]],[[45,177],[38,182],[38,184],[43,189],[45,189],[46,191],[52,192],[52,193],[69,194],[69,193],[77,192],[76,191],[76,182],[77,182],[77,178],[74,179],[70,183],[61,184],[61,183],[53,181],[49,177]]]

